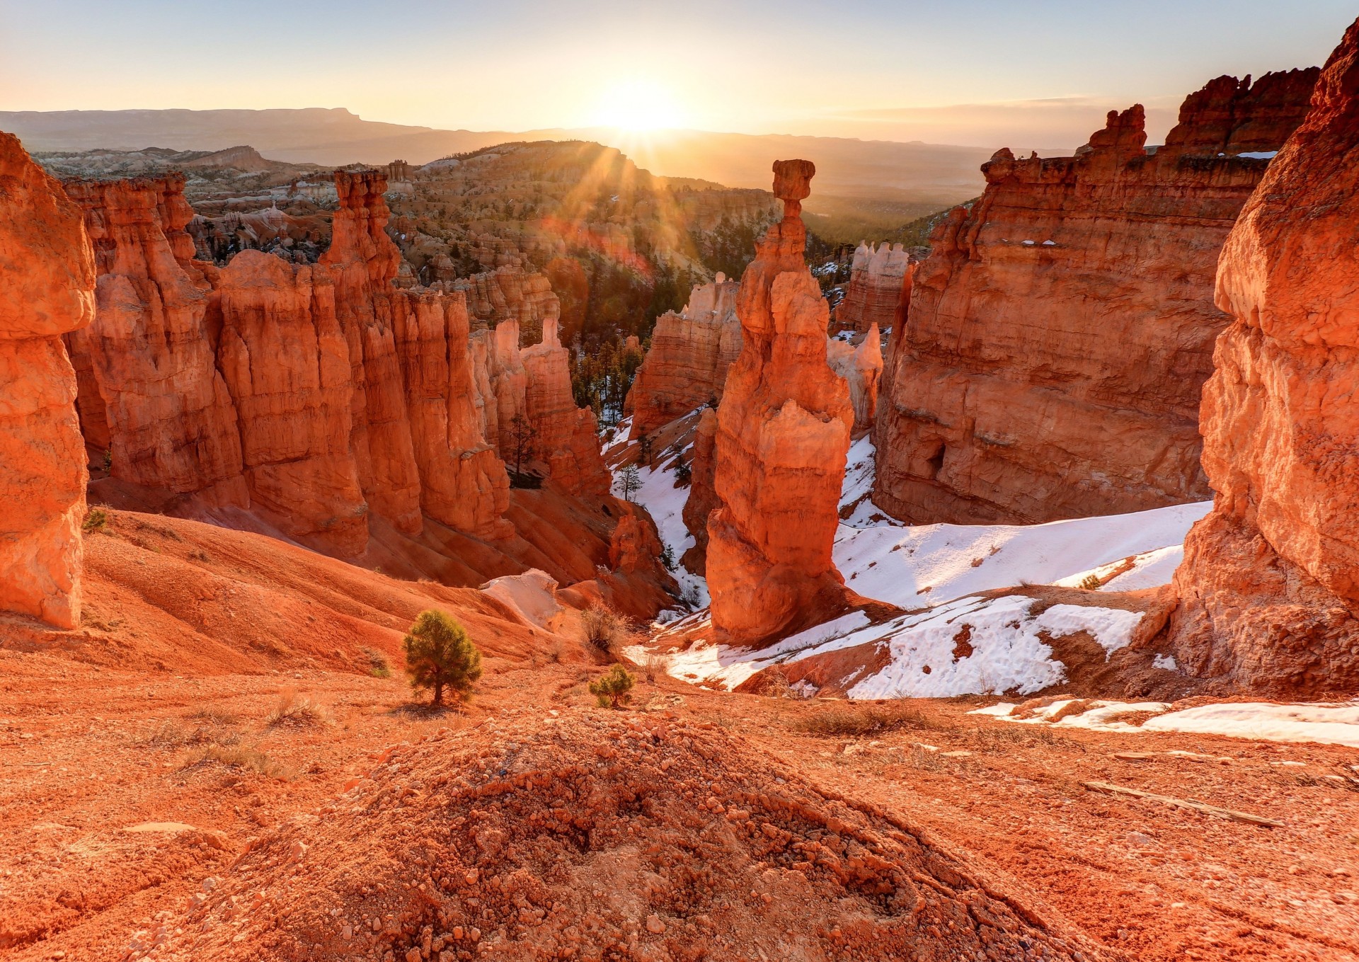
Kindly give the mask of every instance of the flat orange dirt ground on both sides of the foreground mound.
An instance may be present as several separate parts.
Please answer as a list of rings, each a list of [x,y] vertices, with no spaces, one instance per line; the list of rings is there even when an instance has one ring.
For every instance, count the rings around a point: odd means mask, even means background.
[[[136,641],[149,644],[154,630]],[[720,760],[733,769],[758,773],[772,761],[830,798],[890,814],[995,890],[1064,917],[1109,958],[1359,957],[1359,789],[1344,768],[1354,749],[1031,728],[969,715],[993,698],[772,698],[663,674],[647,681],[640,670],[633,705],[610,712],[586,690],[599,663],[548,641],[488,652],[465,713],[416,705],[400,670],[201,674],[170,660],[120,666],[125,658],[96,656],[92,643],[0,647],[0,947],[24,962],[124,959],[158,942],[169,950],[196,893],[211,893],[299,815],[333,811],[394,745],[417,750],[453,730],[465,732],[463,747],[491,747],[506,726],[523,736],[666,719],[723,735],[726,750],[745,755]],[[1282,825],[1108,795],[1089,781]],[[712,957],[758,957],[752,947],[777,936],[777,913],[760,902],[733,910],[745,931],[713,936]],[[620,951],[633,954],[606,958],[669,958],[646,951],[665,923],[646,912],[614,921]],[[482,927],[480,951],[527,939],[535,924],[510,909],[501,927]]]

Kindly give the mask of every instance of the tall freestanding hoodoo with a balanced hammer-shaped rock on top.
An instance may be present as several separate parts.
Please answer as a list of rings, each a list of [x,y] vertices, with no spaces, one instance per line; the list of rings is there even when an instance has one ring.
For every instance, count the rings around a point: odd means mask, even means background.
[[[765,641],[844,598],[830,557],[853,408],[826,366],[829,308],[803,262],[800,201],[815,173],[775,163],[784,219],[741,279],[741,356],[718,408],[707,576],[712,621]]]

